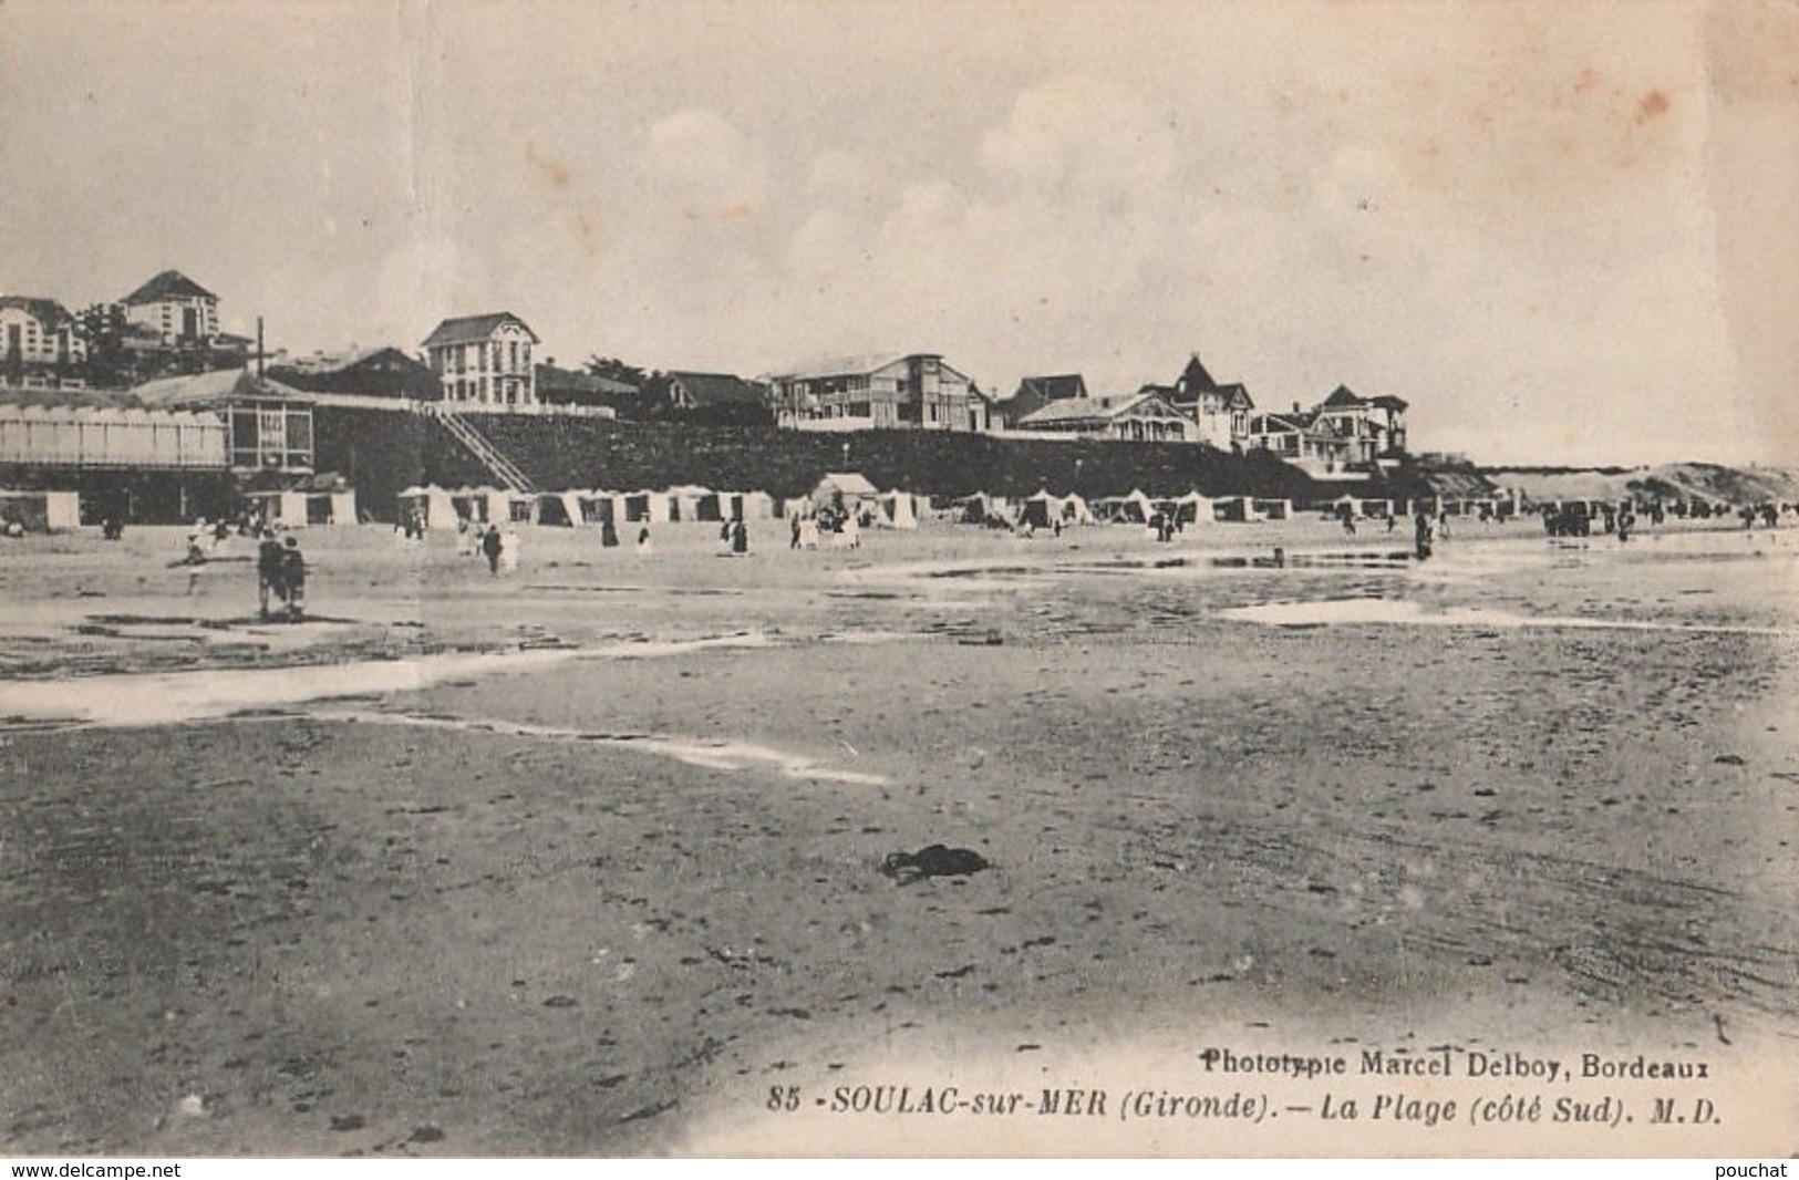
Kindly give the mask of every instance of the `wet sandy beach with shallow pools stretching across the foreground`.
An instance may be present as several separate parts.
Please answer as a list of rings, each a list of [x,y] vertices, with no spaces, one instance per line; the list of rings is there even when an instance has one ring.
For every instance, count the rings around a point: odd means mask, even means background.
[[[299,626],[173,531],[4,556],[7,1153],[765,1149],[774,1085],[1207,1043],[1794,1056],[1799,532],[304,540]],[[926,844],[991,867],[878,871]],[[786,1149],[1304,1149],[991,1133]]]

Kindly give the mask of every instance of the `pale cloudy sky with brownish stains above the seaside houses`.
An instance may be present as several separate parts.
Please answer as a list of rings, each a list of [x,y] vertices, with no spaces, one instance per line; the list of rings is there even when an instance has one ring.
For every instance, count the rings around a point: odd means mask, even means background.
[[[1337,383],[1484,462],[1799,462],[1799,7],[0,5],[0,290],[272,344]]]

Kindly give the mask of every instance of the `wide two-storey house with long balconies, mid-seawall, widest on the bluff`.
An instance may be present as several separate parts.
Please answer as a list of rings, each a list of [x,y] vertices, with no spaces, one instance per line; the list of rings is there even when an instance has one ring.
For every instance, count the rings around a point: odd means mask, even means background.
[[[988,430],[991,401],[937,353],[806,365],[768,378],[775,421],[797,430]]]

